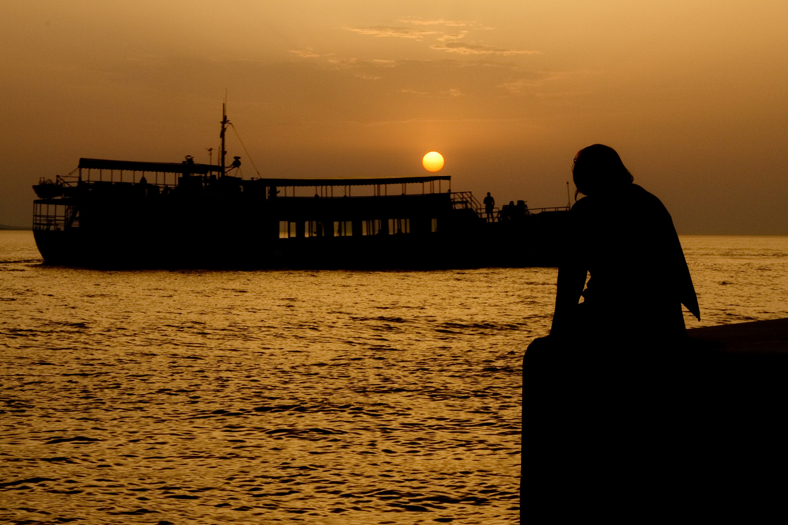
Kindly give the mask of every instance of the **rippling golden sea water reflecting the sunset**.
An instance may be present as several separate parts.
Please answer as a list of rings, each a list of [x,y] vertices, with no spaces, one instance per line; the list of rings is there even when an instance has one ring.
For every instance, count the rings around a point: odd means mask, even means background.
[[[681,241],[687,327],[788,317],[788,237]],[[0,231],[0,521],[518,523],[556,274],[96,271]]]

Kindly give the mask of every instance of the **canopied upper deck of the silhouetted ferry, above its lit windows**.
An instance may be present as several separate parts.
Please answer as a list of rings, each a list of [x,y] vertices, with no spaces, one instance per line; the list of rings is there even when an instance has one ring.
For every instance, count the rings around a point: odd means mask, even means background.
[[[151,214],[194,208],[214,216],[255,209],[281,220],[435,218],[452,209],[450,176],[243,179],[236,172],[191,162],[82,158],[69,175],[34,187],[40,197],[34,223],[77,227],[89,216],[135,216],[141,209]]]

